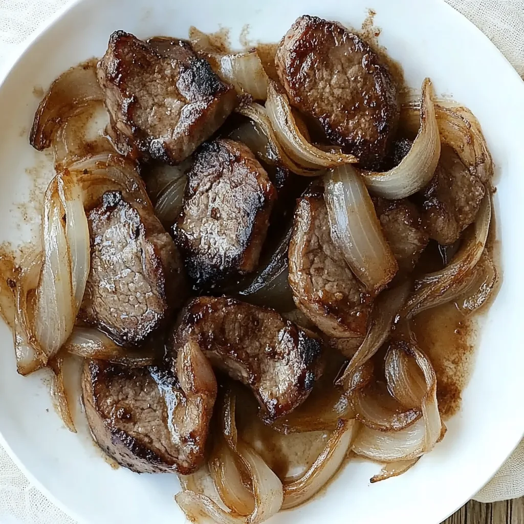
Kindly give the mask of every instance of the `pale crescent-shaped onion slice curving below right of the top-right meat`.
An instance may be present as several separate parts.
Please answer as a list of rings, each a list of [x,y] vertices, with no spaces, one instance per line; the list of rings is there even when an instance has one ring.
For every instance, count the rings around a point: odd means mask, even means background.
[[[406,198],[429,183],[439,157],[439,127],[432,100],[431,81],[426,78],[422,83],[420,97],[420,128],[410,151],[398,166],[389,171],[362,171],[362,177],[373,194],[390,200]]]

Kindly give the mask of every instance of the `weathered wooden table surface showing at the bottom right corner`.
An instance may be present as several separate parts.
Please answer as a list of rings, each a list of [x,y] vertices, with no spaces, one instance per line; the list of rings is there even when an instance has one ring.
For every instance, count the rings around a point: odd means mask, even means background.
[[[470,500],[442,524],[524,524],[524,497],[491,504]]]

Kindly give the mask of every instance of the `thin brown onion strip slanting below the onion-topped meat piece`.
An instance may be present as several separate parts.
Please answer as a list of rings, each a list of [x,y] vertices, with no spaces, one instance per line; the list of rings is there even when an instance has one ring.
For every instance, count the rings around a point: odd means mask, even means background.
[[[389,338],[396,315],[408,297],[409,288],[409,282],[405,282],[394,289],[381,292],[375,300],[364,342],[353,355],[343,375],[337,380],[337,384],[342,386],[344,390],[350,389],[352,377],[357,369],[369,361]]]

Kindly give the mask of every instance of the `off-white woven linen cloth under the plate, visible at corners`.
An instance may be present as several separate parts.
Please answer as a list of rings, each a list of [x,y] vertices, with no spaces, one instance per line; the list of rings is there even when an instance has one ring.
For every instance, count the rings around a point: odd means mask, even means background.
[[[524,78],[524,0],[446,2],[484,31]],[[42,21],[67,3],[68,0],[0,0],[0,70]],[[491,502],[523,495],[524,441],[474,498]],[[0,522],[74,524],[31,485],[1,447]]]

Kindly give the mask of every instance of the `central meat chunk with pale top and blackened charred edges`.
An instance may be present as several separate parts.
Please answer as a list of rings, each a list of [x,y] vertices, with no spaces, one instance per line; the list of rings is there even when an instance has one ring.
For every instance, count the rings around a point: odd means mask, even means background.
[[[174,234],[189,276],[211,285],[258,264],[277,193],[253,153],[239,142],[204,144],[188,173]]]

